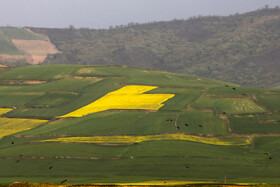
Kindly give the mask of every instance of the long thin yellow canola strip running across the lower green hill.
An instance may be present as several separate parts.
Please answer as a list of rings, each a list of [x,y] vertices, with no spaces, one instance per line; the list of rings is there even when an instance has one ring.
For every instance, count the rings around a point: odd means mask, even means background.
[[[251,143],[250,137],[238,138],[214,138],[200,137],[185,134],[161,134],[146,136],[93,136],[93,137],[66,137],[41,140],[40,142],[62,142],[62,143],[97,143],[97,144],[132,144],[144,141],[160,140],[185,140],[212,145],[247,145]]]

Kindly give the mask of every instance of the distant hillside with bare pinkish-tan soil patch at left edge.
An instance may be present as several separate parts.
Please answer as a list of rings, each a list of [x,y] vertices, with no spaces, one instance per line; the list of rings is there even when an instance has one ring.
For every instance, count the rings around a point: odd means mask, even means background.
[[[48,37],[26,28],[0,27],[0,63],[27,65],[43,62],[47,54],[57,53]]]

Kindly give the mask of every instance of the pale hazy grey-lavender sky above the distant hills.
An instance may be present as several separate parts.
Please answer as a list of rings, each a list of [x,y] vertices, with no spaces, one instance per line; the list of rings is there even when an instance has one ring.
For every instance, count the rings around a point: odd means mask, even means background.
[[[0,0],[0,25],[108,28],[244,13],[266,4],[280,6],[280,0]]]

